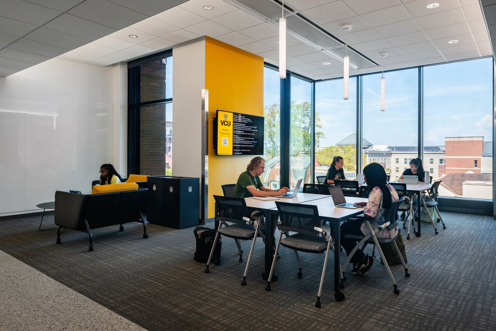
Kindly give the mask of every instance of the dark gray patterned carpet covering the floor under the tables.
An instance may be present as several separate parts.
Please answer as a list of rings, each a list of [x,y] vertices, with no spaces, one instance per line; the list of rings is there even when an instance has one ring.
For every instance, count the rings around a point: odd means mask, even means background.
[[[265,291],[263,242],[257,241],[241,286],[249,244],[239,263],[234,241],[223,238],[222,263],[203,272],[193,261],[193,228],[173,230],[140,223],[93,231],[38,231],[39,218],[0,222],[0,249],[148,330],[496,330],[496,223],[491,217],[444,212],[447,229],[423,223],[422,237],[406,240],[410,278],[401,265],[391,269],[401,290],[376,262],[368,275],[351,275],[333,297],[332,257],[327,267],[322,308],[314,306],[323,255],[281,248],[279,281]],[[51,227],[53,216],[46,217]],[[371,247],[369,246],[369,249]],[[369,250],[368,249],[368,250]],[[342,261],[346,255],[342,253]]]

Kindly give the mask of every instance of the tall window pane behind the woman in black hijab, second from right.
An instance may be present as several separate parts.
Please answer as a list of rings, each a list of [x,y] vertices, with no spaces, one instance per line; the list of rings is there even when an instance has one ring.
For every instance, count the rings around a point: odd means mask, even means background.
[[[418,156],[419,69],[384,72],[384,111],[380,77],[363,76],[363,165],[380,163],[395,181]]]

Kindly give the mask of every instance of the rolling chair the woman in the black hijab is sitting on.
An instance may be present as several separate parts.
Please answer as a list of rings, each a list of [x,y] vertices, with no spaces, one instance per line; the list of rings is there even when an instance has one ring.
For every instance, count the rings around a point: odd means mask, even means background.
[[[384,267],[386,268],[386,271],[389,275],[389,278],[391,279],[391,284],[393,285],[394,288],[394,294],[400,294],[400,290],[396,284],[396,280],[394,280],[394,276],[391,273],[391,269],[389,268],[389,265],[387,264],[386,258],[384,257],[384,253],[382,253],[382,249],[380,248],[380,245],[388,244],[388,243],[393,243],[394,250],[398,254],[398,257],[401,261],[401,264],[403,265],[403,268],[405,269],[405,277],[410,277],[410,271],[408,271],[408,267],[405,264],[405,261],[403,260],[403,257],[401,256],[401,252],[398,248],[398,245],[396,245],[396,237],[394,238],[377,238],[375,234],[379,231],[382,231],[383,229],[387,228],[389,230],[392,230],[398,226],[398,220],[396,220],[396,214],[398,212],[398,206],[405,201],[405,198],[401,198],[396,202],[391,203],[391,206],[387,208],[387,210],[384,212],[384,221],[385,223],[380,225],[377,229],[372,229],[372,225],[369,221],[368,218],[361,218],[365,221],[367,228],[369,229],[370,233],[367,236],[359,236],[359,235],[345,235],[345,238],[351,238],[351,239],[356,239],[359,241],[359,243],[355,246],[353,251],[350,253],[348,258],[346,259],[346,262],[344,264],[343,270],[346,271],[346,268],[348,267],[348,264],[350,263],[351,258],[355,254],[355,252],[360,249],[362,245],[366,246],[367,244],[373,244],[374,250],[372,251],[372,256],[374,256],[374,251],[375,248],[377,248],[377,251],[379,252],[380,258],[382,259],[382,262],[384,263]],[[399,230],[398,230],[399,233]],[[365,247],[362,247],[362,251],[365,249]],[[344,274],[344,273],[343,273]],[[343,280],[346,280],[345,277],[343,277]]]

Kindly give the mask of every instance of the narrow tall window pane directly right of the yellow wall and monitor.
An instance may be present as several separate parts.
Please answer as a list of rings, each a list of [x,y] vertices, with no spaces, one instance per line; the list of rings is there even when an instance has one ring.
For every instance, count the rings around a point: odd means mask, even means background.
[[[280,91],[279,71],[264,67],[263,117],[265,120],[265,132],[263,139],[263,157],[265,158],[265,172],[262,175],[262,181],[263,184],[270,189],[278,189],[280,187]]]

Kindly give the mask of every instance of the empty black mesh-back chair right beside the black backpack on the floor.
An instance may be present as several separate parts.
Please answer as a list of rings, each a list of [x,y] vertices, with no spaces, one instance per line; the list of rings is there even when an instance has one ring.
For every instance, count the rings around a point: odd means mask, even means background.
[[[258,222],[254,222],[254,217],[261,216],[262,213],[250,216],[246,201],[243,198],[214,196],[214,199],[215,202],[217,202],[217,207],[219,210],[217,214],[219,227],[217,228],[217,233],[215,234],[214,244],[212,245],[212,250],[210,251],[210,256],[208,257],[205,273],[210,272],[210,262],[212,261],[212,256],[215,251],[215,245],[217,244],[219,235],[222,234],[226,237],[239,240],[253,240],[248,255],[247,266],[243,275],[243,280],[241,281],[241,285],[246,285],[248,266],[251,260],[251,255],[253,254],[253,248],[255,247],[256,238],[257,236],[260,236],[263,238],[263,240],[265,240],[265,237],[259,229],[260,226]],[[232,224],[228,224],[228,222]],[[222,227],[223,225],[224,227]],[[243,262],[242,254],[240,254],[239,262]]]

